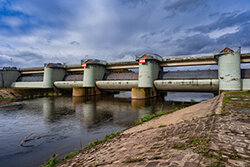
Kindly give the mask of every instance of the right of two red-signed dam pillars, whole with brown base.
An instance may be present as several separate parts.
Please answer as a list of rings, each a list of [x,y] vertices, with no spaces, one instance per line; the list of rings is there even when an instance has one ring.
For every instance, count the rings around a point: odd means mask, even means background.
[[[144,54],[137,57],[139,61],[139,78],[138,87],[132,88],[132,99],[147,99],[157,96],[154,87],[154,80],[158,78],[159,72],[162,71],[160,62],[162,58],[156,54]]]

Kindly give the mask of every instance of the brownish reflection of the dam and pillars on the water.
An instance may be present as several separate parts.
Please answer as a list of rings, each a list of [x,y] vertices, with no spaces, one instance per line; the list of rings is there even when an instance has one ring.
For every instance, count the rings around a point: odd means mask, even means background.
[[[69,100],[71,99],[71,100]],[[152,115],[160,110],[170,110],[175,106],[162,103],[162,99],[130,100],[125,98],[93,96],[57,97],[43,99],[44,119],[53,121],[62,115],[72,114],[81,118],[87,127],[101,121],[111,121],[121,126],[129,126],[144,116]]]

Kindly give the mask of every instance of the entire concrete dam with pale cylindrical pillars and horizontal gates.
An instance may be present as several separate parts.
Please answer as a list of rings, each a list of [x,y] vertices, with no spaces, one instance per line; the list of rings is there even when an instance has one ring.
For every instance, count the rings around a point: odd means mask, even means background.
[[[72,90],[73,96],[131,91],[133,99],[150,98],[168,91],[246,91],[250,90],[250,67],[241,69],[243,63],[250,63],[250,53],[241,54],[240,49],[229,48],[203,57],[164,59],[157,54],[143,54],[127,62],[88,59],[79,65],[49,63],[44,67],[19,70],[4,68],[0,71],[0,87],[57,88]],[[197,65],[218,65],[218,70],[164,71],[168,67]]]

